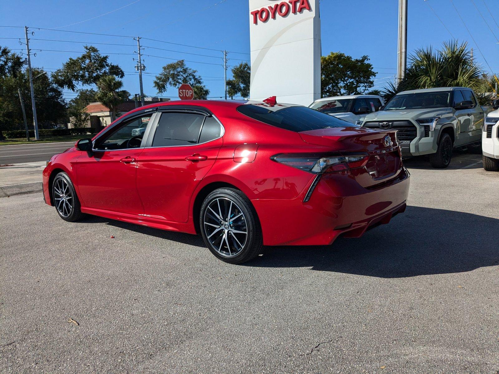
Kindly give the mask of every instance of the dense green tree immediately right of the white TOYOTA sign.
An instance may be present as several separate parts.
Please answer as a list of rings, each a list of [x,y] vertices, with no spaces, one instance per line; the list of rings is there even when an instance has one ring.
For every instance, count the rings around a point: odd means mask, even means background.
[[[322,97],[365,93],[374,85],[376,73],[369,57],[353,59],[341,52],[320,58]]]

